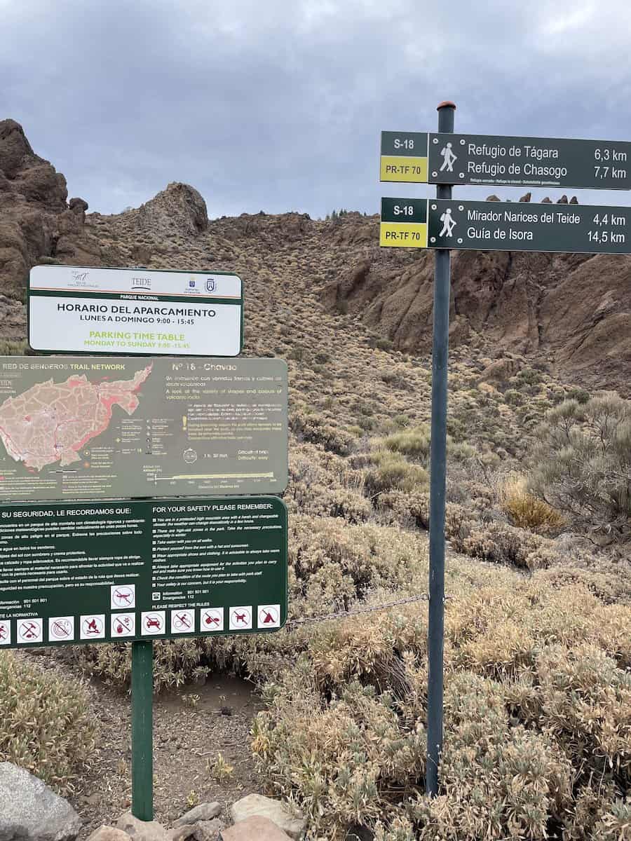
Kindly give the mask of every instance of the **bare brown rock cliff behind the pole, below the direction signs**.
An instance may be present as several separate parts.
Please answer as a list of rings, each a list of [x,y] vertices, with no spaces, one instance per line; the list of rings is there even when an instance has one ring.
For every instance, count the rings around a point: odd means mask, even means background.
[[[376,218],[349,220],[338,231],[371,247],[331,284],[326,303],[359,315],[402,351],[427,352],[432,254],[374,247],[378,225]],[[588,387],[628,394],[631,257],[456,251],[452,286],[452,346],[538,357]]]

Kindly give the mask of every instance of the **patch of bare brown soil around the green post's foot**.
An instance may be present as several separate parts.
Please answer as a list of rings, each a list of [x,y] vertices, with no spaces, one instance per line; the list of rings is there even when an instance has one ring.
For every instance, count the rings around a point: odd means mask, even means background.
[[[77,674],[47,653],[33,656],[47,671]],[[95,716],[100,722],[97,754],[89,772],[68,797],[83,821],[79,841],[103,823],[112,823],[131,806],[131,701],[127,693],[91,680]],[[249,748],[249,731],[262,704],[252,684],[225,674],[204,685],[188,685],[154,698],[154,817],[167,827],[198,803],[219,801],[227,810],[252,791],[264,789]],[[232,766],[215,780],[217,754]]]

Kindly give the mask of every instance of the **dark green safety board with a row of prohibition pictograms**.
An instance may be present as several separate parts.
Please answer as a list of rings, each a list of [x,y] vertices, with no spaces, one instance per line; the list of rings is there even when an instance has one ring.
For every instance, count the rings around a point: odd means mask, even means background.
[[[278,497],[0,505],[0,648],[278,630]]]

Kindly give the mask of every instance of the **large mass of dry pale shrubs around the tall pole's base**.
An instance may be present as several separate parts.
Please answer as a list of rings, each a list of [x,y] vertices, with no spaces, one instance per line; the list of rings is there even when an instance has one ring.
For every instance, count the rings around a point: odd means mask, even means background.
[[[314,627],[268,685],[252,747],[310,814],[310,838],[353,823],[384,841],[625,838],[631,612],[506,575],[473,590],[460,575],[448,602],[436,800],[424,795],[424,606]]]

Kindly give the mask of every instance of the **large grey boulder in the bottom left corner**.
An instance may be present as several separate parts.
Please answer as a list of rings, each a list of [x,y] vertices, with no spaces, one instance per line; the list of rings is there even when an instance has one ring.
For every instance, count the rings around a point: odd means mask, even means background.
[[[23,768],[0,763],[0,841],[74,841],[80,829],[68,801]]]

